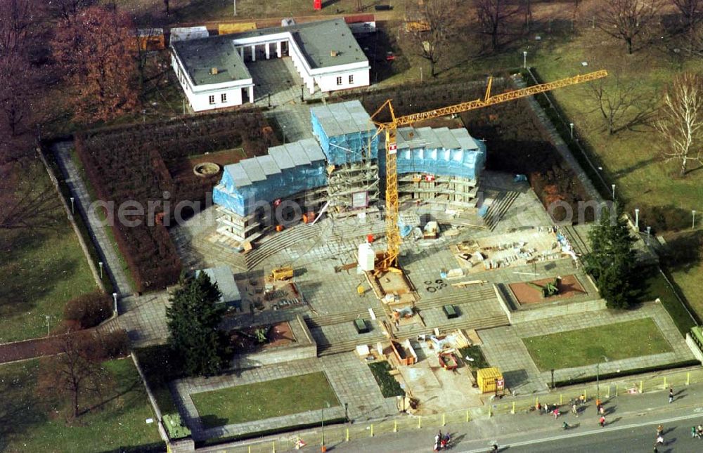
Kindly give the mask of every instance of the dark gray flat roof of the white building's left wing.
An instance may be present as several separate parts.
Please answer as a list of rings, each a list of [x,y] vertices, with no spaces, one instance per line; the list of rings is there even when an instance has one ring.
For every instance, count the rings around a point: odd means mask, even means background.
[[[171,46],[196,86],[252,78],[232,44],[231,35],[176,41]],[[212,74],[214,67],[217,74]]]

